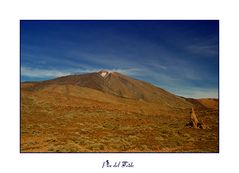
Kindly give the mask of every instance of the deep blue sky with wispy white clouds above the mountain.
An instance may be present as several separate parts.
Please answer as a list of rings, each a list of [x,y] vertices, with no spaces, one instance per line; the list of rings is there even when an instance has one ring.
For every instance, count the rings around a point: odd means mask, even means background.
[[[22,81],[107,69],[177,95],[218,97],[218,21],[23,20],[20,25]]]

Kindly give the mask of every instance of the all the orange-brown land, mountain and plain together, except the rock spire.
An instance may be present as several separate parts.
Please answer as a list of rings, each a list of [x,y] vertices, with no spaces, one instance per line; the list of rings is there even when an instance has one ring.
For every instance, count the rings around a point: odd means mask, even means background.
[[[205,129],[187,127],[190,110]],[[21,152],[219,152],[218,99],[116,72],[21,83]]]

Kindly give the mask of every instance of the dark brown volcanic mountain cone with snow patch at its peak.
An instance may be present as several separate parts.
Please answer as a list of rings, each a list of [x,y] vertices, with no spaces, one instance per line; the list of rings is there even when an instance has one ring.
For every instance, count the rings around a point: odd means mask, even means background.
[[[101,91],[124,99],[158,103],[159,106],[190,108],[185,98],[176,96],[150,83],[133,79],[118,72],[99,72],[69,75],[36,83],[31,90],[40,90],[51,85],[73,85]]]

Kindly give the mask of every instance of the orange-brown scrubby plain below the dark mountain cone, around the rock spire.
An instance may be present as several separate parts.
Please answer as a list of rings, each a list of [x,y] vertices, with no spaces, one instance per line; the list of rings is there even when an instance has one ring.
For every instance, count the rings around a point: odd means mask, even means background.
[[[185,127],[187,110],[125,103],[23,91],[21,152],[218,152],[217,110],[196,112],[203,130]]]

